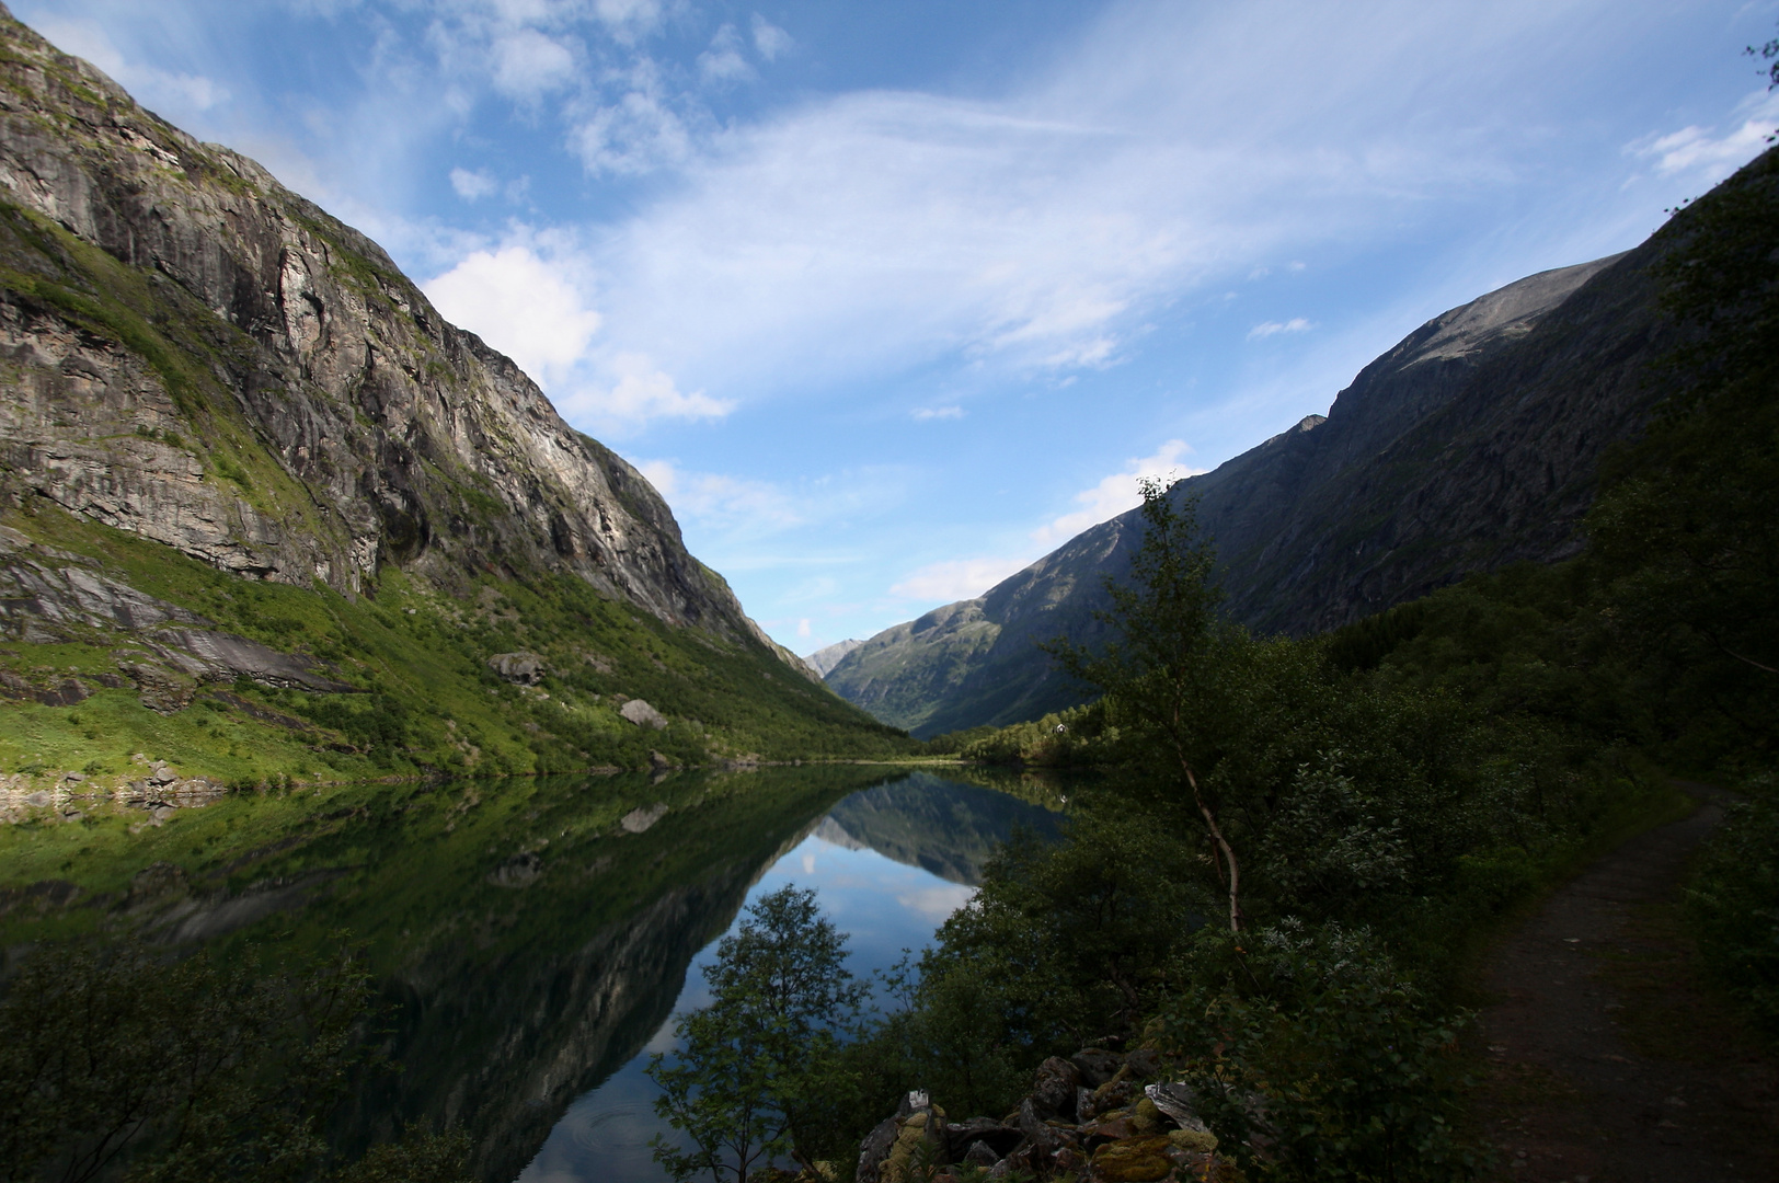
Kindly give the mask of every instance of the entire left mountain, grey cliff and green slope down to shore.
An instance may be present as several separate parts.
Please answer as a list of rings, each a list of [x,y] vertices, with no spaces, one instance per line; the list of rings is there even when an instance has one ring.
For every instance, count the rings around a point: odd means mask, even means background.
[[[866,724],[687,553],[648,480],[447,324],[381,247],[142,110],[4,7],[0,516],[7,635],[25,646],[0,653],[0,690],[44,706],[133,688],[176,713],[196,687],[238,681],[249,697],[253,685],[436,690],[427,710],[448,719],[445,699],[480,699],[480,681],[498,697],[502,683],[575,672],[587,710],[610,715],[637,688],[594,674],[635,656],[646,678],[646,656],[688,683],[720,658],[722,692],[772,703],[792,729]],[[400,619],[363,601],[397,576],[413,598]],[[470,624],[484,635],[452,637],[425,685],[404,681],[427,628]],[[500,653],[486,649],[502,644],[516,653],[489,672]],[[52,665],[76,678],[48,678]],[[322,719],[340,712],[308,713],[320,728],[308,745],[363,754],[352,728]],[[713,747],[760,751],[763,724]],[[530,763],[530,747],[507,765]],[[578,740],[566,751],[608,761]]]

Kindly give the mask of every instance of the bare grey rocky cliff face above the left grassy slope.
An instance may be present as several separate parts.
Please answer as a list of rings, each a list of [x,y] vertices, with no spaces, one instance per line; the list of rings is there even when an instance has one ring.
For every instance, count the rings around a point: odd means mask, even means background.
[[[648,480],[374,242],[4,7],[0,48],[9,500],[347,594],[390,564],[573,573],[770,644]]]

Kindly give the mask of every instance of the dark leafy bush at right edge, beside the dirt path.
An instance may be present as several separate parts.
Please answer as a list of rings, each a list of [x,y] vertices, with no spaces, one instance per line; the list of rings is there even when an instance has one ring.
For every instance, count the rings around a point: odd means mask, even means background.
[[[1763,788],[1708,840],[1686,907],[1706,966],[1779,1035],[1779,802]]]

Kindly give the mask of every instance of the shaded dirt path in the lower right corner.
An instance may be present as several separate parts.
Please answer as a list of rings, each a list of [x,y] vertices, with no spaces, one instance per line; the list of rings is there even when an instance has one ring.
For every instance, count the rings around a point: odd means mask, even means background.
[[[1722,809],[1633,838],[1489,962],[1482,1119],[1516,1183],[1779,1179],[1774,1057],[1701,989],[1686,857]]]

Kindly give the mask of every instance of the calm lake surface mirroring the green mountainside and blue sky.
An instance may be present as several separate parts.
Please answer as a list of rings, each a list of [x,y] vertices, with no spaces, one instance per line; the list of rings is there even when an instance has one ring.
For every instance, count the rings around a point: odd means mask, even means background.
[[[841,765],[244,793],[75,852],[76,877],[126,888],[71,907],[224,957],[365,941],[402,1071],[336,1115],[349,1156],[448,1121],[489,1183],[534,1160],[527,1178],[653,1179],[637,1057],[703,1002],[687,970],[749,895],[815,886],[857,971],[888,966],[1014,827],[1055,833],[1059,801],[1010,788]]]

